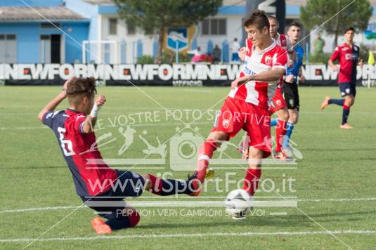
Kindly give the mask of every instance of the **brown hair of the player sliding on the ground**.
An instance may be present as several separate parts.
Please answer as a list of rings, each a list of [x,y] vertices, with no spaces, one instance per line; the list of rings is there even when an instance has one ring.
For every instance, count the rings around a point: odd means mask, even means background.
[[[94,77],[74,78],[67,85],[67,97],[69,103],[79,105],[82,98],[91,98],[96,94],[96,79]]]

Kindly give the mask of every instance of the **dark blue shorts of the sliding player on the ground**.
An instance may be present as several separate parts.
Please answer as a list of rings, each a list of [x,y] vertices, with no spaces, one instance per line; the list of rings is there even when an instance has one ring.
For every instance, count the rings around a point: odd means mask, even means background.
[[[145,180],[138,173],[117,170],[117,180],[111,185],[110,190],[95,197],[81,197],[86,206],[98,212],[104,218],[114,218],[122,211],[126,197],[138,197],[143,192]]]

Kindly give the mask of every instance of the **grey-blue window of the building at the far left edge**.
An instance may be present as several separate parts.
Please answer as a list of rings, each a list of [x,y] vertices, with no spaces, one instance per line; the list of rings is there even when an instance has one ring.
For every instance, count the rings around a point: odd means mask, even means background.
[[[17,37],[15,34],[0,34],[0,62],[17,62]]]

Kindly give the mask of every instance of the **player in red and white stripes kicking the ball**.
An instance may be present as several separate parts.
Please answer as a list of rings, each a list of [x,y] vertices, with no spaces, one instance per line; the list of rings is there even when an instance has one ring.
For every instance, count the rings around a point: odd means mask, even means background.
[[[240,77],[231,83],[231,91],[216,117],[214,128],[198,151],[197,167],[190,177],[202,183],[216,148],[243,129],[250,137],[251,159],[243,188],[252,196],[261,176],[261,159],[271,155],[269,107],[276,84],[285,74],[288,55],[271,38],[264,11],[252,12],[243,25],[248,39]]]

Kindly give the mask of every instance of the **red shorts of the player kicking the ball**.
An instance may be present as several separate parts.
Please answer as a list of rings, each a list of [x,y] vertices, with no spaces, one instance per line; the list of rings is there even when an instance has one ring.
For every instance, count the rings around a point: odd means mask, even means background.
[[[226,98],[216,115],[214,131],[223,131],[231,137],[243,129],[250,138],[249,145],[264,151],[264,158],[271,155],[271,117],[264,110],[244,100]]]

